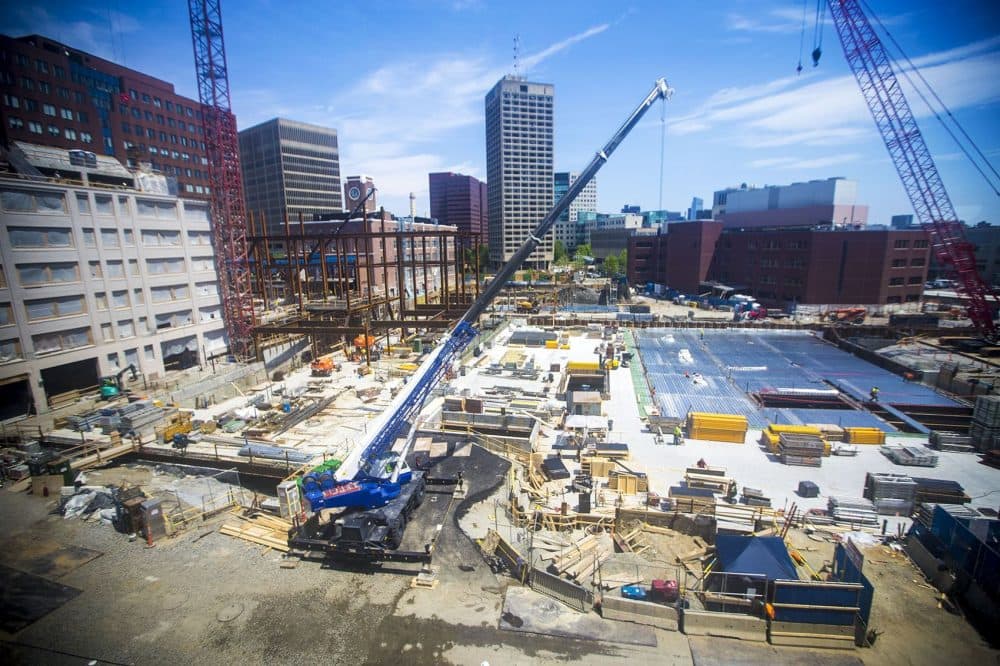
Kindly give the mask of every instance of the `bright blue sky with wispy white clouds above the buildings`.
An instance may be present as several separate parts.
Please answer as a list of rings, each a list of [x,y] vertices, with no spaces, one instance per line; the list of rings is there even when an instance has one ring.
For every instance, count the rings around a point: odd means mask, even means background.
[[[1000,3],[869,4],[1000,163]],[[829,15],[820,67],[808,62],[812,13],[796,75],[800,1],[223,0],[240,127],[278,115],[335,127],[341,172],[373,176],[380,202],[397,213],[414,191],[426,214],[429,172],[485,177],[483,97],[511,71],[518,35],[521,72],[555,85],[557,170],[585,166],[665,76],[676,90],[666,109],[665,208],[743,182],[845,176],[859,181],[870,222],[888,223],[911,207]],[[182,0],[38,2],[8,8],[0,30],[42,33],[197,95]],[[959,216],[1000,224],[1000,198],[909,99]],[[658,207],[660,129],[654,108],[598,175],[601,211]]]

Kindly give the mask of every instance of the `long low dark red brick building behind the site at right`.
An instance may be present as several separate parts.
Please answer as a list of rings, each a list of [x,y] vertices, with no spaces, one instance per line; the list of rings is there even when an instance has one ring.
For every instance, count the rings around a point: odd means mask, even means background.
[[[920,300],[930,249],[922,230],[725,229],[671,224],[629,243],[629,279],[697,293],[712,280],[767,305],[901,304]]]

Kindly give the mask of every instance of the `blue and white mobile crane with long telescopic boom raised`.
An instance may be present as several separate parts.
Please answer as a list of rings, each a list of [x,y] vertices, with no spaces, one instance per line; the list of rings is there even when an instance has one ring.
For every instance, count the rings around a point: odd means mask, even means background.
[[[427,355],[403,390],[369,424],[367,441],[356,446],[335,469],[321,467],[303,476],[302,492],[314,513],[304,524],[292,529],[289,537],[293,547],[373,561],[429,558],[426,552],[397,551],[406,523],[424,496],[426,480],[423,473],[410,469],[406,461],[417,431],[415,421],[424,402],[476,336],[475,324],[479,316],[552,230],[558,217],[604,166],[649,107],[657,100],[665,102],[672,94],[666,80],[657,79],[653,89],[611,140],[528,234],[524,244],[497,272],[455,327]],[[393,443],[407,431],[406,445],[402,451],[394,452]],[[345,509],[340,517],[323,524],[320,510],[338,507]]]

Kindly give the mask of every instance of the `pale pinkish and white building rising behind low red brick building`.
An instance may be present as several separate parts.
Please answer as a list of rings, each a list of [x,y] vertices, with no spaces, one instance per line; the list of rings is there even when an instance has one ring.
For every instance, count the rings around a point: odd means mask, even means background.
[[[727,229],[779,226],[857,227],[868,223],[868,206],[857,204],[858,184],[845,178],[719,190],[712,219]]]

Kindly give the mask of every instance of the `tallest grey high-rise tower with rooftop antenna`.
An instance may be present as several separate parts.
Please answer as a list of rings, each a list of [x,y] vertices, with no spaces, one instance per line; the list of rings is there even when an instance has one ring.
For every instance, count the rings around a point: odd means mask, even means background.
[[[486,94],[490,262],[501,265],[552,208],[554,87],[505,76]],[[525,262],[547,269],[553,236]]]

